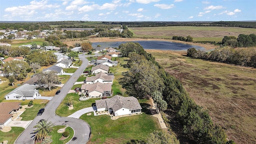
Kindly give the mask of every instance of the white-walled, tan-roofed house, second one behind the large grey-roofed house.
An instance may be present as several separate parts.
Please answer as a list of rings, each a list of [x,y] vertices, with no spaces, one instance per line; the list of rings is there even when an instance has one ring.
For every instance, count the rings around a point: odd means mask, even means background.
[[[96,82],[100,82],[102,84],[111,83],[113,84],[114,75],[108,75],[106,73],[100,72],[95,76],[86,77],[84,81],[85,84],[94,84]]]

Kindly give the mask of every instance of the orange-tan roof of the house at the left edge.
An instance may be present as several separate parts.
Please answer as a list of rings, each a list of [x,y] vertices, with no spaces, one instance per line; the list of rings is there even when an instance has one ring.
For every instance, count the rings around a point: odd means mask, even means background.
[[[18,110],[21,102],[0,102],[0,124],[4,124],[12,114],[12,110]]]

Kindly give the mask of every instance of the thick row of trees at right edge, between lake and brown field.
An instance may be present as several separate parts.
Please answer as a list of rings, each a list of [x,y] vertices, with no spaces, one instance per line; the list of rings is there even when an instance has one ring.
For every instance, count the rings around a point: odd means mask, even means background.
[[[216,48],[211,52],[188,49],[187,56],[215,62],[224,62],[238,66],[248,66],[256,68],[256,49],[244,48],[235,50],[234,48]]]

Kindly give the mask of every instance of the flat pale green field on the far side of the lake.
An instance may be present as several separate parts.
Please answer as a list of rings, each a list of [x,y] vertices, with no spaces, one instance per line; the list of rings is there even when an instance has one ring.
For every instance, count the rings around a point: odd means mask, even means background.
[[[162,26],[129,28],[134,37],[145,38],[170,38],[172,36],[192,36],[194,41],[220,42],[224,36],[239,34],[256,34],[255,28],[215,27],[215,26]]]

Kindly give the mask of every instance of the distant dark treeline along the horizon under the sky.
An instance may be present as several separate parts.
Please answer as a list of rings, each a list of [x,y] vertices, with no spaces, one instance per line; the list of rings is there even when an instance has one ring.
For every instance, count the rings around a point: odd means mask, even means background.
[[[156,27],[156,26],[229,26],[242,28],[256,28],[256,22],[88,22],[88,21],[56,21],[56,22],[2,22],[0,29],[3,30],[49,30],[50,25],[56,25],[56,28],[100,28],[108,27],[108,29],[120,27],[122,25],[128,27]]]

